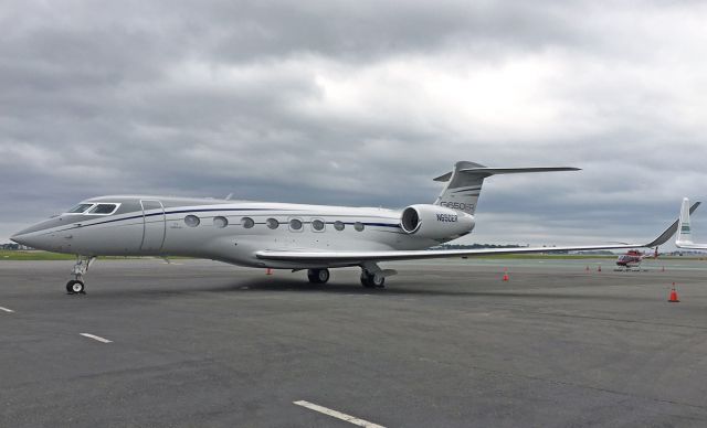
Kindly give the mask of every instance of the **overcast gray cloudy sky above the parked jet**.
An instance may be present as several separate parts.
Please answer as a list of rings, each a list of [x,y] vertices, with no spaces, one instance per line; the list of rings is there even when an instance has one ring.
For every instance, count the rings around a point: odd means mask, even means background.
[[[101,194],[431,203],[458,160],[583,169],[488,179],[467,240],[652,238],[707,202],[705,22],[701,1],[4,0],[0,242]]]

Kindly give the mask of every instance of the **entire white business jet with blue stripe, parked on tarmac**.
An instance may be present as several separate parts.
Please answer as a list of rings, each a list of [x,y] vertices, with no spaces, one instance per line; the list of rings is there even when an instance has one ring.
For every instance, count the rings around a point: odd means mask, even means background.
[[[577,171],[577,168],[487,168],[457,162],[435,181],[446,186],[433,204],[402,211],[213,199],[101,196],[12,236],[30,247],[76,255],[68,293],[84,293],[84,275],[98,256],[187,256],[240,266],[308,270],[314,283],[329,268],[359,266],[365,287],[394,275],[381,261],[489,254],[655,247],[677,221],[644,244],[494,249],[426,249],[472,232],[484,179],[496,174]],[[699,203],[697,203],[699,204]],[[696,204],[696,205],[697,205]]]

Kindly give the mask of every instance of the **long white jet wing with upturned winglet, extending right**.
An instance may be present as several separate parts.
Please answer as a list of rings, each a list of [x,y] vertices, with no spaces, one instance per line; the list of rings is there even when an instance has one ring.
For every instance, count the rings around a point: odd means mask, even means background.
[[[690,206],[694,212],[699,202]],[[424,258],[453,258],[503,254],[532,254],[555,252],[588,252],[595,249],[652,248],[665,244],[677,231],[675,221],[657,238],[640,244],[572,245],[561,247],[520,247],[520,248],[483,248],[483,249],[419,249],[419,250],[382,250],[382,252],[319,252],[314,249],[261,250],[255,256],[265,260],[321,263],[321,264],[359,264],[363,261],[415,260]]]

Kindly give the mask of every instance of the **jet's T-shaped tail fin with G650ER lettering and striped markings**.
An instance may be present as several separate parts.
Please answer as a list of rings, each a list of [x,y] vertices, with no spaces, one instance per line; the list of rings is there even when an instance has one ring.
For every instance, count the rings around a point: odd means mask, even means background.
[[[447,182],[434,204],[473,215],[476,211],[484,179],[490,175],[579,170],[579,168],[569,167],[488,168],[474,162],[461,161],[454,164],[453,171],[434,179],[434,181]]]

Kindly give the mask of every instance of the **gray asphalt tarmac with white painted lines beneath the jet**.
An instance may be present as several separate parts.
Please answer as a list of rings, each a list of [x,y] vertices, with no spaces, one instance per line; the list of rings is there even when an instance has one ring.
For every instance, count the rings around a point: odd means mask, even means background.
[[[0,261],[0,426],[707,426],[707,261],[599,263]]]

